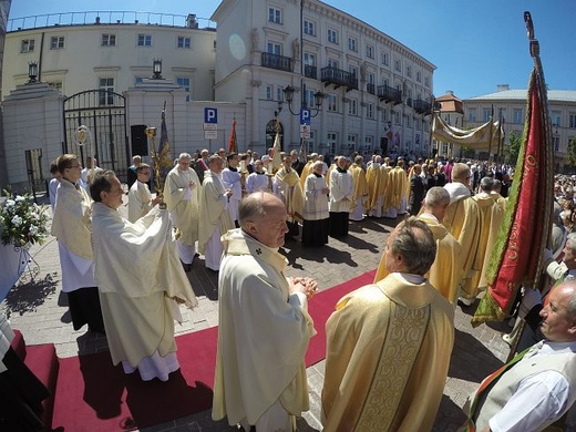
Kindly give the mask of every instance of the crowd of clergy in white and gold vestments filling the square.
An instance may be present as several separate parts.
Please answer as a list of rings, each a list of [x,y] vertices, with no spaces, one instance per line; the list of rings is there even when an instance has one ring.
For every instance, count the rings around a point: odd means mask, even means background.
[[[75,329],[88,323],[105,333],[113,362],[126,373],[167,380],[179,368],[177,306],[196,305],[186,272],[203,254],[206,268],[218,272],[213,418],[246,431],[294,431],[309,409],[305,353],[316,331],[307,305],[318,281],[285,277],[280,247],[298,236],[304,246],[322,247],[367,217],[401,218],[373,284],[341,298],[326,323],[322,424],[326,431],[432,428],[454,310],[486,289],[511,167],[203,150],[179,154],[153,198],[151,167],[140,156],[133,162],[127,218],[117,212],[125,192],[115,173],[90,161],[83,183],[75,155],[55,164],[52,233]],[[562,233],[572,229],[573,185],[557,177]],[[549,251],[547,268],[562,280],[549,300],[525,290],[521,301],[518,319],[539,317],[528,326],[536,344],[471,397],[469,431],[543,430],[576,400],[576,282],[564,276],[576,269],[576,239],[559,238],[556,248],[563,263]]]

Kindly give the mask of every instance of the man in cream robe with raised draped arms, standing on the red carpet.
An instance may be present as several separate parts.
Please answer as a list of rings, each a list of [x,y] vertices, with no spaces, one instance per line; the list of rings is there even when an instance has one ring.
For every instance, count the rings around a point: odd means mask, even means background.
[[[110,354],[125,373],[167,381],[179,369],[174,320],[178,305],[197,305],[175,245],[168,213],[154,209],[135,224],[117,212],[122,185],[113,172],[96,174],[94,264]]]

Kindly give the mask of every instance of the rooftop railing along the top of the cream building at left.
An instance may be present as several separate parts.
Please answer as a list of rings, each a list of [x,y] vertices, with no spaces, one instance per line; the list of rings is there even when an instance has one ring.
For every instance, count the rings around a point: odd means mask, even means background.
[[[188,29],[216,30],[216,23],[193,13],[179,16],[173,13],[135,11],[84,11],[61,12],[12,18],[8,20],[7,31],[21,31],[59,25],[97,25],[97,24],[142,24],[166,25]]]

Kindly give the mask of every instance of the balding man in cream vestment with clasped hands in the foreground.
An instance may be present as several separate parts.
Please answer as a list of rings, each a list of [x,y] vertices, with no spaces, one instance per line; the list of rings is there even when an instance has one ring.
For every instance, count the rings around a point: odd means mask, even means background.
[[[309,278],[286,278],[286,207],[272,194],[240,202],[240,229],[224,239],[213,419],[246,431],[292,431],[309,409],[305,353],[315,333]]]

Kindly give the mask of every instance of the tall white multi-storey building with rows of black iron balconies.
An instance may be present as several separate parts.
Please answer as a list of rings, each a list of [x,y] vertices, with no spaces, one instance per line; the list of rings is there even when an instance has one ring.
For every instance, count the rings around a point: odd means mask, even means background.
[[[246,101],[249,145],[271,144],[278,101],[295,89],[316,114],[301,136],[300,116],[279,114],[284,150],[344,154],[429,153],[435,66],[382,31],[316,0],[225,0],[217,22],[217,101]],[[266,137],[266,138],[265,138]]]

